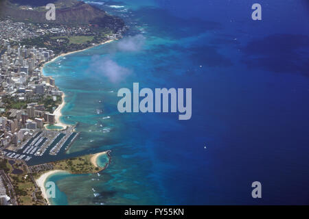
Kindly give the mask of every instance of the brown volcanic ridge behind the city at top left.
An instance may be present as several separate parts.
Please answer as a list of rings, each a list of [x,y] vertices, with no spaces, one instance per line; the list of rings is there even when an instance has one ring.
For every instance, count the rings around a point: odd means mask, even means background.
[[[23,2],[23,5],[20,3]],[[14,21],[55,24],[93,24],[112,29],[122,28],[124,22],[115,16],[76,0],[54,1],[56,5],[56,20],[47,21],[47,10],[44,5],[34,4],[32,0],[10,0],[0,3],[0,16],[10,16]],[[45,3],[45,1],[42,1]],[[49,3],[53,2],[49,0]],[[18,3],[18,4],[17,4]],[[30,8],[31,7],[31,8]]]

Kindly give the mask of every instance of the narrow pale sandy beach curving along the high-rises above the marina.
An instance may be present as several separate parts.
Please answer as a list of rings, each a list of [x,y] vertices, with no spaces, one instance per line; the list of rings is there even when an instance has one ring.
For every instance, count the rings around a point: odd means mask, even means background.
[[[116,39],[117,40],[117,39]],[[98,46],[100,46],[100,45],[102,45],[102,44],[107,44],[107,43],[109,43],[109,42],[113,42],[114,40],[107,40],[107,41],[105,41],[105,42],[101,42],[100,44],[95,44],[95,45],[93,45],[93,46],[91,46],[91,47],[87,47],[87,48],[85,48],[85,49],[80,49],[80,50],[76,50],[76,51],[71,51],[71,52],[68,52],[68,53],[61,53],[60,55],[57,55],[56,57],[54,57],[52,60],[50,60],[50,61],[48,61],[48,62],[45,62],[44,64],[43,64],[43,66],[41,66],[41,68],[40,68],[40,71],[41,71],[41,75],[44,75],[44,73],[43,73],[43,68],[44,68],[44,66],[46,65],[46,64],[49,64],[49,63],[52,63],[52,62],[54,62],[54,61],[56,61],[59,57],[65,57],[66,55],[71,55],[71,54],[73,54],[73,53],[79,53],[79,52],[81,52],[81,51],[85,51],[85,50],[87,50],[87,49],[91,49],[91,48],[93,48],[93,47],[98,47]],[[57,87],[58,88],[58,87]],[[63,129],[67,129],[67,127],[69,126],[68,124],[65,124],[65,123],[62,123],[61,121],[60,121],[60,117],[62,116],[62,114],[61,114],[61,110],[62,110],[62,108],[65,106],[65,92],[63,92],[62,91],[62,101],[61,101],[61,104],[60,105],[58,105],[58,107],[57,107],[57,109],[54,111],[54,115],[55,115],[55,120],[56,120],[56,123],[54,124],[55,126],[59,126],[59,127],[62,127]],[[49,125],[49,124],[45,124],[44,125],[44,127],[45,127],[45,129],[48,129],[47,128],[47,125]],[[58,130],[58,131],[60,131],[60,130],[63,130],[63,129],[56,129],[56,130]]]

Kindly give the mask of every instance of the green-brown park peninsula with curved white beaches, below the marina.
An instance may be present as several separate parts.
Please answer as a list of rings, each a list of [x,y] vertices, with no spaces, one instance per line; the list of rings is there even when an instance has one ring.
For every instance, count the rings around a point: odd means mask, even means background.
[[[111,151],[72,157],[36,166],[27,166],[23,160],[0,157],[0,185],[12,205],[47,205],[49,203],[45,181],[57,172],[93,174],[107,168],[111,163]],[[106,156],[99,166],[97,159]],[[0,190],[1,191],[1,190]]]

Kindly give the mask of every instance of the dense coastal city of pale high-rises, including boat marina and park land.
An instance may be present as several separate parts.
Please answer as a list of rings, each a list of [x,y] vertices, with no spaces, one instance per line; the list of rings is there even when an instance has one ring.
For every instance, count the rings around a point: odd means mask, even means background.
[[[43,75],[43,64],[61,53],[121,38],[126,28],[0,18],[0,205],[47,205],[34,180],[38,171],[27,162],[57,155],[78,136],[74,126],[48,129],[57,123],[63,92]]]

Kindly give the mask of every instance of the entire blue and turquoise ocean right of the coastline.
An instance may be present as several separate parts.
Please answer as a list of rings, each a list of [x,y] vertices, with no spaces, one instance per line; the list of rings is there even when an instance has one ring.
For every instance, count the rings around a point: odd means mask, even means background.
[[[92,2],[122,17],[126,36],[44,73],[66,94],[62,121],[81,132],[64,156],[110,149],[112,162],[50,177],[52,203],[308,204],[308,1],[261,0],[262,21],[251,0]],[[192,88],[192,118],[119,114],[117,90],[134,82]]]

